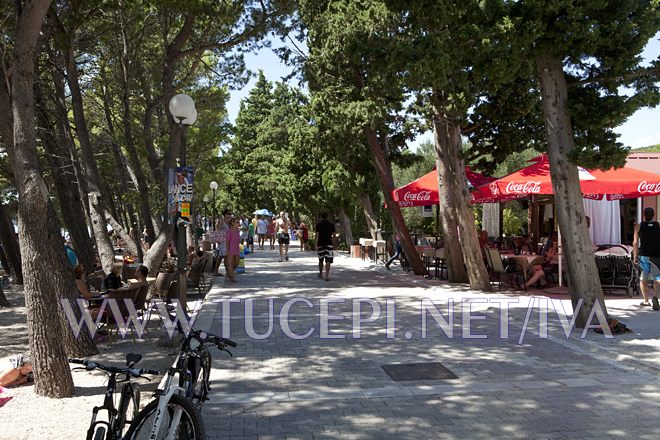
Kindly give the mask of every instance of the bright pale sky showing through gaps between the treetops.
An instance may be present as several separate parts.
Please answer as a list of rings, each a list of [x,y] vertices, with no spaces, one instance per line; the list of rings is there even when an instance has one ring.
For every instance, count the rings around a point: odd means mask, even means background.
[[[273,46],[278,47],[282,46],[282,44],[281,42],[279,44],[274,43]],[[660,32],[649,42],[642,55],[646,60],[660,57]],[[247,68],[252,72],[256,73],[259,70],[263,70],[266,79],[271,82],[280,81],[293,71],[293,68],[284,65],[270,48],[262,49],[253,54],[246,54],[245,63]],[[289,83],[299,85],[297,81],[294,78]],[[248,95],[255,82],[256,78],[253,77],[243,89],[230,92],[227,109],[229,121],[232,124],[238,114],[241,100]],[[653,109],[648,107],[639,109],[628,118],[628,121],[617,127],[615,131],[620,135],[619,141],[633,149],[660,144],[660,106]],[[419,136],[409,146],[412,149],[416,149],[416,146],[426,139],[431,139],[430,133]]]

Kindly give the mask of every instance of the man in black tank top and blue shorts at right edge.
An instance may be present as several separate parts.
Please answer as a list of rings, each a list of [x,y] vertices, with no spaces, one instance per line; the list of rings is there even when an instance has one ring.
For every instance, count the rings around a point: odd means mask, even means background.
[[[633,261],[639,264],[642,274],[639,287],[644,301],[642,307],[648,307],[648,282],[653,281],[653,310],[660,310],[658,294],[660,293],[660,224],[653,221],[655,211],[653,208],[644,208],[644,221],[635,226],[633,237]],[[639,262],[639,263],[638,263]]]

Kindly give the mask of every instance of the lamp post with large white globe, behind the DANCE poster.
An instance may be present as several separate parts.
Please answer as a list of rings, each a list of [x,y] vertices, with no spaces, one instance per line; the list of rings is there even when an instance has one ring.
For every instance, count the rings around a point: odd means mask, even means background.
[[[179,148],[179,166],[186,166],[186,128],[197,120],[195,101],[188,95],[174,95],[169,102],[169,110],[181,132],[181,147]],[[180,208],[180,207],[179,207]],[[192,212],[190,219],[193,219]],[[177,216],[177,278],[179,280],[179,301],[186,301],[186,222]]]

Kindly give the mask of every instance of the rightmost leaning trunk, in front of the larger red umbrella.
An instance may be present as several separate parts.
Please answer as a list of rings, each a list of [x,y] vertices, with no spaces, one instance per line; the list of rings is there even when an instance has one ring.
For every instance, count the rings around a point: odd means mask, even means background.
[[[563,252],[573,310],[577,311],[576,325],[589,325],[589,315],[596,302],[607,316],[603,290],[589,239],[584,214],[578,170],[569,155],[575,149],[573,128],[568,113],[568,92],[561,59],[542,55],[536,59],[541,81],[545,127],[548,135],[548,160],[552,189],[555,193],[557,219],[562,235]]]

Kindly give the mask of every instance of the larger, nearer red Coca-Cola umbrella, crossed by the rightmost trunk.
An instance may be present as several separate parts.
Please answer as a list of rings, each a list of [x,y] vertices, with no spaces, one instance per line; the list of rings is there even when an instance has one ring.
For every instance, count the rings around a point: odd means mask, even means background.
[[[484,185],[472,193],[473,203],[504,201],[553,194],[550,164],[543,154],[532,165]],[[586,170],[578,167],[580,189],[586,198],[610,200],[660,194],[660,175],[632,168]]]

